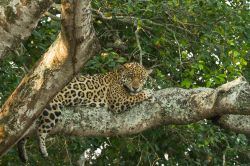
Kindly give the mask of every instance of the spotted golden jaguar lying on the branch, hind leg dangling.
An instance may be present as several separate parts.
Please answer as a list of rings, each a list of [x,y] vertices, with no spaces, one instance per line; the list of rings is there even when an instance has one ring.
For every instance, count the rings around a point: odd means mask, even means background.
[[[60,91],[40,116],[37,130],[39,148],[43,157],[48,153],[45,139],[61,115],[61,108],[67,106],[107,107],[120,113],[151,97],[148,90],[142,90],[151,70],[138,63],[126,63],[104,75],[77,76]],[[25,141],[20,141],[24,146]],[[24,149],[19,146],[19,151]],[[27,155],[20,154],[23,161]],[[22,158],[22,156],[24,156]]]

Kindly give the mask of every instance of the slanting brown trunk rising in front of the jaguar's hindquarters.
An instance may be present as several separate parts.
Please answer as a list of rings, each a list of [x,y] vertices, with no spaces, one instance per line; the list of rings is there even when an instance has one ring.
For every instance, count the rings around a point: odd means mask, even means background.
[[[0,156],[23,137],[51,98],[99,50],[90,2],[62,2],[62,32],[2,106]]]

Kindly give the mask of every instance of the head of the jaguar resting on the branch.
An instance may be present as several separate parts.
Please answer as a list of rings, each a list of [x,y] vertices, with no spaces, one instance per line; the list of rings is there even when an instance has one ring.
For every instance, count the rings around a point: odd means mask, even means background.
[[[147,70],[139,63],[126,63],[120,67],[120,81],[130,93],[138,93],[142,90],[152,70]]]

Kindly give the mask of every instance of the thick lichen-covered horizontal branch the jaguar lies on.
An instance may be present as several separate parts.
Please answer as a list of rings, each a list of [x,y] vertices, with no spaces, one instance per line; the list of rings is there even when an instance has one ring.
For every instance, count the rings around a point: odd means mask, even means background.
[[[244,78],[217,89],[163,89],[155,92],[155,98],[154,103],[145,101],[122,114],[113,114],[104,108],[67,108],[63,112],[62,122],[53,133],[75,136],[127,135],[164,124],[189,124],[217,115],[250,114],[250,86]],[[34,127],[30,134],[33,132]]]

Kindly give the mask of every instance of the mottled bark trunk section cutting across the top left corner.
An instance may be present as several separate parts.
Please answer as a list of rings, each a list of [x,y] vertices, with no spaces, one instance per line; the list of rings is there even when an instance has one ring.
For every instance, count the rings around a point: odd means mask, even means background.
[[[0,59],[30,36],[53,0],[0,2]]]

